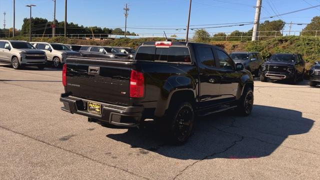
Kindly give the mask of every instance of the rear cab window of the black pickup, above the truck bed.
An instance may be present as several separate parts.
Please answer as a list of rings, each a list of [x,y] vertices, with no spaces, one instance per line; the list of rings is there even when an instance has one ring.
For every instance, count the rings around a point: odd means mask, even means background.
[[[140,46],[136,52],[135,59],[191,63],[190,52],[187,46]]]

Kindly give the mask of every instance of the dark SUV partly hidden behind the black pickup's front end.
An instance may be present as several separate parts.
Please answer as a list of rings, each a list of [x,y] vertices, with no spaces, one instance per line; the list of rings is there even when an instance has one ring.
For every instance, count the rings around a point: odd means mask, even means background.
[[[264,62],[259,52],[232,52],[230,57],[235,63],[242,63],[244,68],[256,76],[260,76]]]

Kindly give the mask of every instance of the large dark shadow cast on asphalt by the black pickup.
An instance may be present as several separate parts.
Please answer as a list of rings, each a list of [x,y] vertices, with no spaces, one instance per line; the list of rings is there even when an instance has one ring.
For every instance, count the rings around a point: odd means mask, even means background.
[[[193,134],[179,146],[166,143],[153,121],[106,137],[177,159],[258,158],[270,155],[289,135],[308,132],[314,122],[300,111],[263,105],[254,105],[246,117],[231,110],[196,120]]]

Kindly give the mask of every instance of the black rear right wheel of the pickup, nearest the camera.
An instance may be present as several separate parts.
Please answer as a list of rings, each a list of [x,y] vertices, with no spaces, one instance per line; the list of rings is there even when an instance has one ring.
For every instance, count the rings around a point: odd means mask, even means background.
[[[169,142],[180,145],[185,143],[191,134],[194,110],[190,102],[182,102],[170,108],[165,119],[162,119],[166,124],[164,128],[168,131]]]

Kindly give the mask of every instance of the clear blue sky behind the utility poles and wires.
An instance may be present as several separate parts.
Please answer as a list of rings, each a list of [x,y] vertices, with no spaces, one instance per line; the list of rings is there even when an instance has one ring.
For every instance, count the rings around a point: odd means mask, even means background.
[[[6,12],[6,27],[12,27],[12,1],[0,0],[0,28],[3,28],[3,12]],[[162,35],[185,33],[189,8],[189,0],[67,0],[67,21],[84,26],[124,27],[123,7],[128,3],[127,28],[130,32],[139,34]],[[256,0],[192,0],[190,25],[221,24],[251,22],[254,20]],[[32,7],[33,17],[53,19],[52,0],[15,0],[15,28],[20,29],[23,18],[29,17]],[[313,5],[320,5],[320,0],[262,0],[260,17],[269,17]],[[320,7],[300,12],[263,19],[282,19],[287,22],[284,30],[289,29],[289,22],[309,23],[313,16],[320,15]],[[56,0],[56,19],[64,20],[64,0]],[[262,21],[263,21],[262,20]],[[212,27],[221,25],[203,25],[190,27]],[[223,26],[223,25],[222,25]],[[292,24],[291,30],[301,30],[305,25]],[[159,29],[137,29],[159,28]],[[171,28],[171,29],[163,29]],[[233,30],[247,31],[252,24],[231,27],[207,28],[208,32],[231,32]],[[194,30],[190,30],[192,33]],[[297,32],[298,33],[298,32]]]

